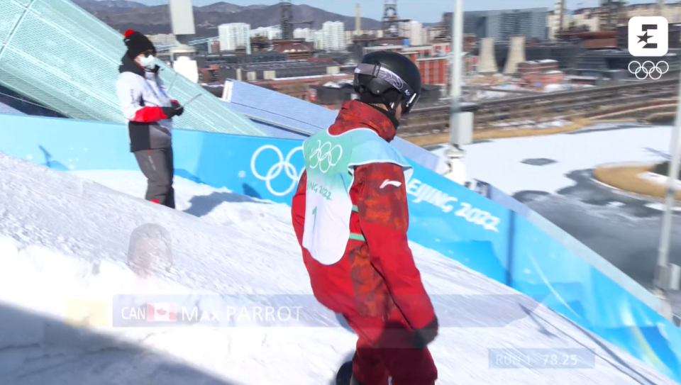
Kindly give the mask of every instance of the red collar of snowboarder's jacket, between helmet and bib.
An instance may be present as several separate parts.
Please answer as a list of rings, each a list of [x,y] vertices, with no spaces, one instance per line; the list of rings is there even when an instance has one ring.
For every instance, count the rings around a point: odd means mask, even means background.
[[[339,135],[354,128],[370,128],[387,142],[395,138],[395,126],[384,113],[361,101],[345,101],[328,132]]]

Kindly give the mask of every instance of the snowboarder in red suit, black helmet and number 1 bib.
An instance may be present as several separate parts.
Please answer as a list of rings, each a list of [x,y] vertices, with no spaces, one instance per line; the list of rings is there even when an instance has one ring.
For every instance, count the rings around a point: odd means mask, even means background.
[[[334,152],[340,145],[333,146],[333,138],[353,130],[365,129],[362,132],[367,133],[366,129],[370,129],[380,137],[380,143],[372,143],[377,151],[384,145],[392,148],[386,143],[394,139],[399,119],[416,104],[421,74],[414,62],[403,55],[372,52],[355,69],[354,85],[360,100],[343,104],[336,123],[321,134],[327,136],[316,140],[314,135],[307,140],[319,141],[319,147],[312,156],[306,155],[317,157],[314,163],[306,159],[292,202],[293,226],[315,297],[323,306],[342,314],[358,334],[351,384],[387,385],[391,378],[393,385],[433,385],[438,372],[426,346],[438,333],[438,320],[406,238],[409,208],[405,167],[399,162],[382,161],[380,156],[375,157],[377,161],[355,162],[349,167],[351,182],[345,183],[347,191],[343,191],[352,201],[352,212],[347,212],[349,220],[345,211],[336,215],[336,208],[318,206],[325,200],[312,197],[322,191],[328,201],[331,192],[309,180],[311,172],[319,168],[325,173],[323,177],[328,177],[328,169],[338,164],[338,157],[345,156],[337,154],[341,150],[342,154],[352,153],[357,147],[344,144]],[[324,138],[332,138],[326,148],[321,144]],[[325,160],[326,164],[321,163]],[[342,175],[347,167],[339,170],[334,177],[348,177]],[[306,210],[313,201],[314,210]],[[318,210],[325,211],[326,221],[319,223]],[[306,221],[314,221],[314,225],[306,226]],[[324,236],[343,238],[343,232],[334,228],[338,223],[348,223],[350,228],[349,239],[338,243],[344,246],[344,250],[338,250],[338,257],[314,255],[304,246],[305,232],[313,227]],[[323,246],[317,250],[323,250]]]

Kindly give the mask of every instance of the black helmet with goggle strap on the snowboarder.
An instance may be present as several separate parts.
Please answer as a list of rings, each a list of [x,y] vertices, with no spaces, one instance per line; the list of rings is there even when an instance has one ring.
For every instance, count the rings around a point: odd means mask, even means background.
[[[375,96],[391,112],[402,103],[402,115],[406,115],[421,96],[421,72],[397,52],[371,52],[355,68],[354,86],[360,96]]]

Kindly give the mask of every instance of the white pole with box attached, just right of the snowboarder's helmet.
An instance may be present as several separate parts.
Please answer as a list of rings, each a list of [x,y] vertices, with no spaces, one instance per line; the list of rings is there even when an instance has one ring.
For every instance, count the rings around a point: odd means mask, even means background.
[[[472,140],[472,119],[463,119],[461,113],[461,67],[463,60],[463,0],[455,0],[452,14],[452,59],[451,65],[451,109],[449,116],[449,144],[447,151],[448,171],[444,176],[448,179],[465,184],[466,169],[463,162],[464,150],[459,145],[466,145]],[[470,115],[468,113],[467,115]]]

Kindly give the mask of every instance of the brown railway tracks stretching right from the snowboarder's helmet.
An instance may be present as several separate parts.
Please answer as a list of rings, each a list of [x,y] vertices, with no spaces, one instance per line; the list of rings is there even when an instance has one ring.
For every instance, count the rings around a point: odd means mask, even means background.
[[[474,111],[475,130],[490,130],[499,128],[500,123],[512,127],[528,121],[541,123],[600,115],[632,102],[641,106],[650,101],[653,105],[660,99],[676,96],[678,84],[678,79],[642,80],[633,84],[488,99],[464,104],[463,108]],[[449,116],[450,106],[446,104],[411,111],[400,128],[400,136],[446,132]]]

